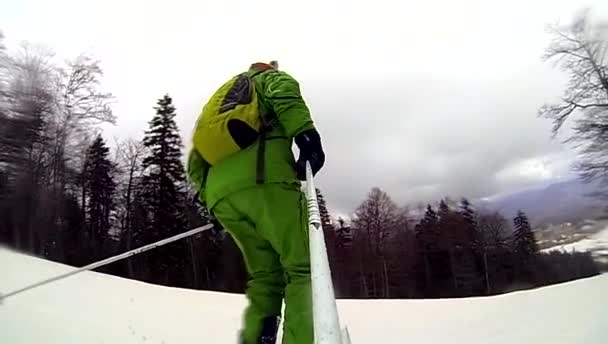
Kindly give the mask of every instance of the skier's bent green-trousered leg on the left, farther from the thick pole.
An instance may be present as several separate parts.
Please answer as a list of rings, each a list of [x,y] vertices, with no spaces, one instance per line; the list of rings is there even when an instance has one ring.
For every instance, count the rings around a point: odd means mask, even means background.
[[[248,210],[255,210],[251,207],[257,203],[261,208],[262,202],[257,201],[255,192],[259,193],[259,190],[241,191],[219,202],[213,209],[214,215],[241,249],[249,274],[246,290],[249,304],[243,316],[240,344],[258,344],[262,335],[276,337],[284,289],[278,254],[257,234],[255,220],[246,214],[249,211],[238,206],[244,202],[246,206],[249,204]]]

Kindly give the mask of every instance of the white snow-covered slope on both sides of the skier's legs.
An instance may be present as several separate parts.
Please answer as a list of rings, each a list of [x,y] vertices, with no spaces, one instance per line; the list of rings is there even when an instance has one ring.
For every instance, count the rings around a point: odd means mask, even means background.
[[[145,253],[144,253],[145,254]],[[0,248],[0,291],[73,269]],[[608,343],[608,275],[496,297],[339,300],[362,343]],[[0,343],[235,344],[242,295],[84,272],[7,298]]]

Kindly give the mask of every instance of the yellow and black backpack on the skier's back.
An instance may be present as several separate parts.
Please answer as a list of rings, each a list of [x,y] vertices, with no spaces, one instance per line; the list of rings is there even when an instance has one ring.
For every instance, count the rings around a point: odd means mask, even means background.
[[[241,73],[224,83],[203,107],[193,134],[193,146],[213,166],[252,145],[268,123],[260,113],[253,77]]]

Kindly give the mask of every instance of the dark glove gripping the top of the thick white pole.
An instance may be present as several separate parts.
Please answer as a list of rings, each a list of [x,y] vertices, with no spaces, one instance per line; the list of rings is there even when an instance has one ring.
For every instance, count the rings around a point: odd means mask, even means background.
[[[321,137],[315,129],[310,129],[296,136],[295,142],[300,149],[300,156],[296,162],[296,174],[298,179],[306,180],[306,161],[310,162],[313,176],[325,164],[325,153],[321,145]]]

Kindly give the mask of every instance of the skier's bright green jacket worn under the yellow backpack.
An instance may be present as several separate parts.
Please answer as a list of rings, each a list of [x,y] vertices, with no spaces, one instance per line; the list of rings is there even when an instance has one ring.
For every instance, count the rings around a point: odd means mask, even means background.
[[[313,129],[314,123],[298,82],[289,74],[268,67],[257,63],[248,71],[256,86],[260,113],[273,114],[276,118],[266,134],[264,183],[283,183],[299,189],[301,184],[296,177],[292,142],[301,132]],[[188,155],[187,173],[199,192],[199,201],[212,209],[227,195],[255,187],[259,144],[260,140],[257,140],[214,166],[209,166],[192,149]]]

